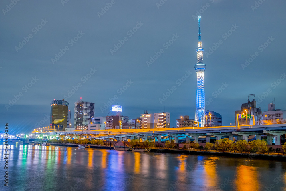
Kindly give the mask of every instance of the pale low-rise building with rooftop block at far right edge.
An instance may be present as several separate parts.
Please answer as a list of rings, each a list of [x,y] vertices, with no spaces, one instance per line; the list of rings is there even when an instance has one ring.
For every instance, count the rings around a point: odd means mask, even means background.
[[[263,124],[286,123],[286,110],[275,109],[275,103],[268,104],[268,111],[263,112]]]

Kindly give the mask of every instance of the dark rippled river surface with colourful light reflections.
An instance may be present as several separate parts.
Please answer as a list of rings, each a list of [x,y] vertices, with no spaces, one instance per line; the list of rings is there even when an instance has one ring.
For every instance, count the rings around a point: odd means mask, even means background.
[[[9,153],[7,190],[286,190],[281,161],[37,145]]]

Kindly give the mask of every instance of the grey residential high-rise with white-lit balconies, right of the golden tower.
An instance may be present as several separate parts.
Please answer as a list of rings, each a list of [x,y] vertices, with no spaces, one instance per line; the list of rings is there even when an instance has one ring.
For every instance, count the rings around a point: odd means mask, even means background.
[[[82,101],[82,98],[74,103],[74,128],[88,127],[94,117],[94,103]]]

